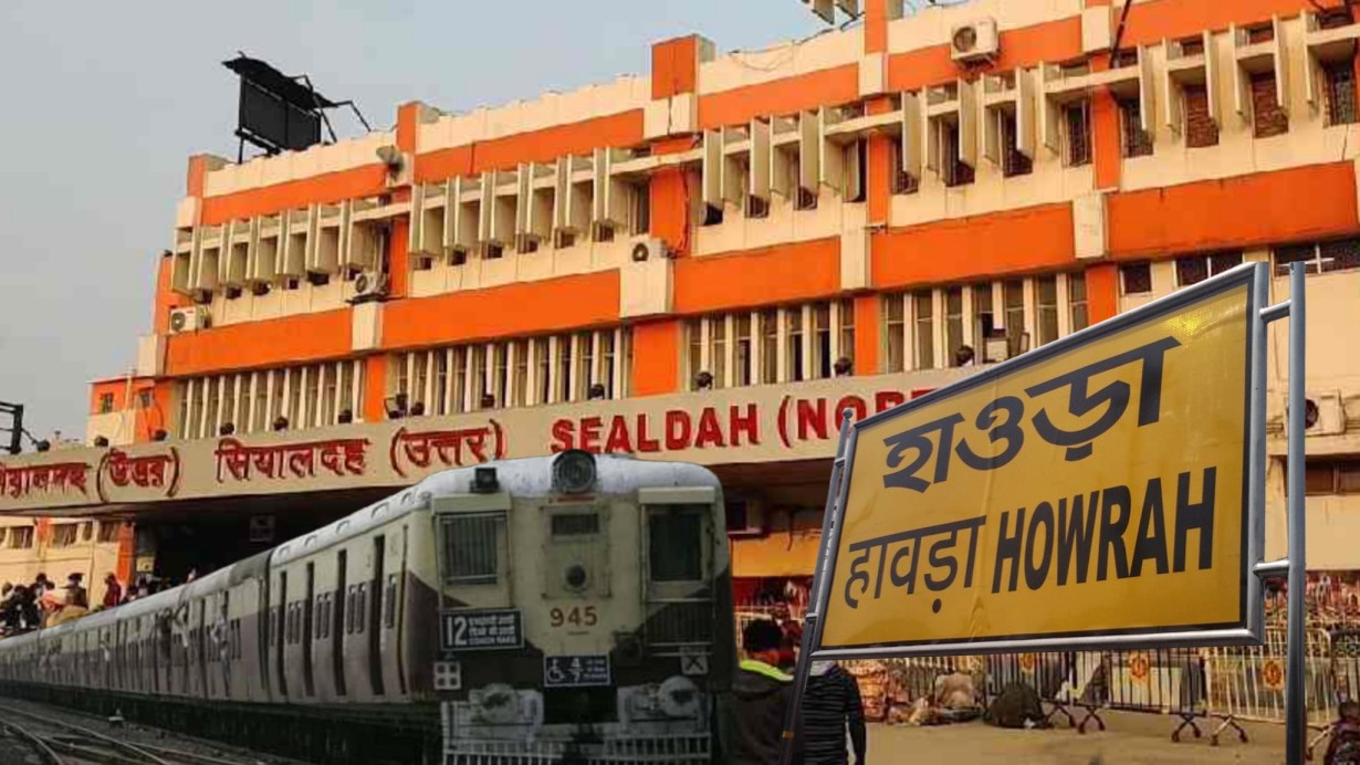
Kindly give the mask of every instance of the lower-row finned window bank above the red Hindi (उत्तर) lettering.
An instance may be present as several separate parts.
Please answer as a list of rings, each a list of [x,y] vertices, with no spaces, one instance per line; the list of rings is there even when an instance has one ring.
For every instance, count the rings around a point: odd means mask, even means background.
[[[627,397],[630,327],[411,351],[390,356],[403,416],[446,416]]]

